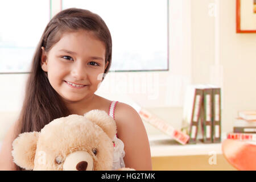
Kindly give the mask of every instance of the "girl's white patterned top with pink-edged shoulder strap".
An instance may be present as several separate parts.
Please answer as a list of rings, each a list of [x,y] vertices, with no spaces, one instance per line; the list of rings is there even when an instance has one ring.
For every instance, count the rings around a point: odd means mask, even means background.
[[[109,115],[115,119],[115,106],[117,105],[118,101],[112,101],[109,106]],[[125,144],[123,144],[122,140],[117,138],[117,134],[115,135],[114,139],[114,158],[113,158],[113,170],[125,167],[125,162],[123,161],[123,157],[125,156]]]

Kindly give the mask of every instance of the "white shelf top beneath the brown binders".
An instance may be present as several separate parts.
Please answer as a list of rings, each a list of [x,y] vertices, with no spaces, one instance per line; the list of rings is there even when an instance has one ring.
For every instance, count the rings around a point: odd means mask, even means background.
[[[181,145],[168,135],[153,135],[148,139],[152,157],[222,154],[221,143],[197,142],[196,144]]]

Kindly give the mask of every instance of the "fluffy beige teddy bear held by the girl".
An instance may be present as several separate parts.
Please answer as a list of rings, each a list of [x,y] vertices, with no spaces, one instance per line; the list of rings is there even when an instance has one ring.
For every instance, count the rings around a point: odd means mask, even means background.
[[[116,133],[114,119],[96,109],[54,119],[40,132],[19,134],[11,153],[14,163],[26,170],[108,171],[113,167]]]

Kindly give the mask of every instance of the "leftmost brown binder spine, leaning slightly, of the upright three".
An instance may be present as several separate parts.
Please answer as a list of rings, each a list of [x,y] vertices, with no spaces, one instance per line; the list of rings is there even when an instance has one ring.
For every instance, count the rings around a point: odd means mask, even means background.
[[[201,103],[203,102],[203,89],[195,89],[193,99],[191,125],[189,127],[189,143],[196,143],[197,132],[199,127],[199,119],[201,113]]]

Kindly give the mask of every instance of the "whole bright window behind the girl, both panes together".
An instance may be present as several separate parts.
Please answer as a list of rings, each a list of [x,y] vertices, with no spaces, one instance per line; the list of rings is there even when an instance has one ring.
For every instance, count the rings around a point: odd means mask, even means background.
[[[168,1],[10,0],[0,2],[0,73],[30,71],[50,11],[58,13],[58,6],[88,9],[104,19],[113,40],[110,72],[168,71]]]

